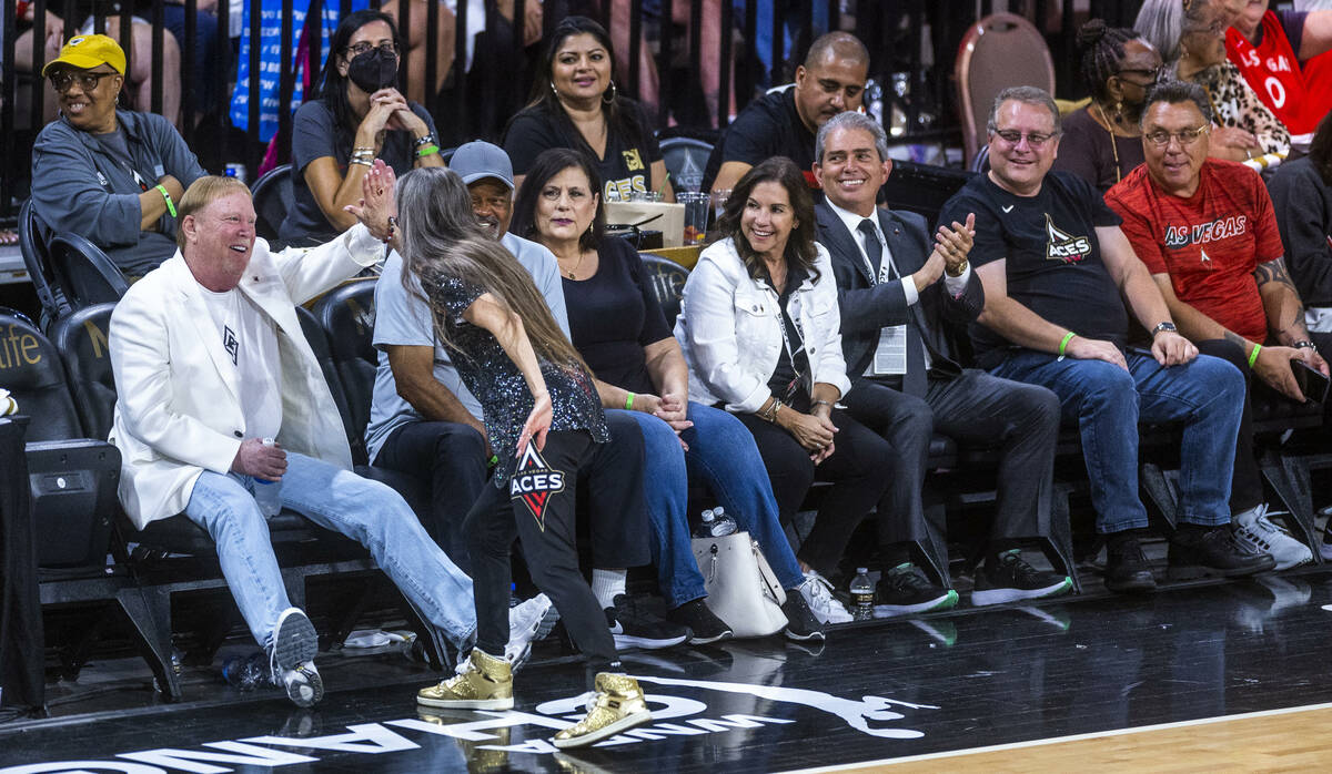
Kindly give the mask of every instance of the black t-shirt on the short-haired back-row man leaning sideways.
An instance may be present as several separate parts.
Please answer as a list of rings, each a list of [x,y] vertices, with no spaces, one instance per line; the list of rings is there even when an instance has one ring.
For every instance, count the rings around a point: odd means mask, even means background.
[[[790,158],[805,173],[810,173],[814,165],[814,133],[795,110],[794,86],[777,94],[763,94],[741,110],[726,137],[707,157],[703,190],[713,190],[713,181],[727,161],[755,166],[774,156]]]

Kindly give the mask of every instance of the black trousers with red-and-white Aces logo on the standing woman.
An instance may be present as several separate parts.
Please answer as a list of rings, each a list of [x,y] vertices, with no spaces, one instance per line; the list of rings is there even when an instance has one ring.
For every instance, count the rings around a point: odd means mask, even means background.
[[[509,548],[517,537],[531,580],[559,610],[589,666],[615,661],[606,616],[578,569],[575,480],[591,446],[583,431],[550,432],[539,452],[541,473],[518,471],[503,488],[488,484],[468,513],[477,646],[492,656],[501,656],[509,642]]]

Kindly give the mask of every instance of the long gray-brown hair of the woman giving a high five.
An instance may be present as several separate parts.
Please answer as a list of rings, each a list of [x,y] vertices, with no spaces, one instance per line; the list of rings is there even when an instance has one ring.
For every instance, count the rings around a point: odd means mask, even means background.
[[[430,302],[429,290],[444,277],[481,287],[518,315],[537,356],[555,366],[587,364],[559,330],[546,299],[527,270],[498,241],[481,229],[472,197],[457,173],[441,168],[414,169],[398,178],[398,226],[402,229],[402,283],[430,303],[434,332],[449,350],[469,356],[449,336],[445,313]]]

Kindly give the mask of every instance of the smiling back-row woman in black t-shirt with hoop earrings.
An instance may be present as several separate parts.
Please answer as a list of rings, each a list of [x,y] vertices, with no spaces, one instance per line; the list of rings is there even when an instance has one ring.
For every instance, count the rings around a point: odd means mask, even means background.
[[[518,188],[542,150],[573,148],[595,160],[605,201],[658,190],[675,201],[646,114],[615,88],[614,60],[610,36],[591,19],[569,16],[555,27],[527,106],[505,130]]]

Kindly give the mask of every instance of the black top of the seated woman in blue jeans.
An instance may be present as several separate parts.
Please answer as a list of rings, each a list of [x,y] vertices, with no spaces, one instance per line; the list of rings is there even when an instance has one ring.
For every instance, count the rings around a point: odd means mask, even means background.
[[[651,278],[633,245],[607,237],[597,274],[562,279],[569,332],[598,379],[630,392],[655,394],[643,347],[671,336]]]

